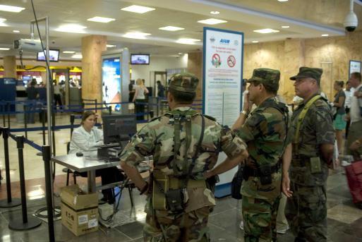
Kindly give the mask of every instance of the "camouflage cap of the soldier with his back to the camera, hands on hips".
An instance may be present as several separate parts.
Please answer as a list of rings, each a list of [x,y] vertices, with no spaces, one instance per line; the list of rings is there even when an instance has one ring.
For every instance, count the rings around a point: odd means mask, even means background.
[[[191,73],[176,73],[172,75],[169,88],[179,92],[196,92],[198,78]]]

